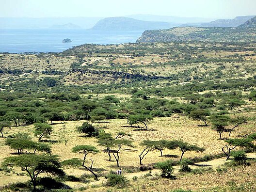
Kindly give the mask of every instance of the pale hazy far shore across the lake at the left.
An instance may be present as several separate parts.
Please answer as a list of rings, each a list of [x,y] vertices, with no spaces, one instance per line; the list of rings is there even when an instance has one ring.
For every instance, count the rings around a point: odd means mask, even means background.
[[[0,29],[49,29],[54,25],[65,25],[67,23],[78,25],[83,29],[90,29],[102,18],[103,17],[0,17]]]

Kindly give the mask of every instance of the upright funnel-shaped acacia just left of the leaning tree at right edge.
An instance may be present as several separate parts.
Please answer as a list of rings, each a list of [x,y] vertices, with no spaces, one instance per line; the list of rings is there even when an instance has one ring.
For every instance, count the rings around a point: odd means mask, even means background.
[[[214,128],[222,139],[222,133],[226,131],[226,126],[229,125],[230,117],[226,115],[213,115],[210,117],[212,128]]]

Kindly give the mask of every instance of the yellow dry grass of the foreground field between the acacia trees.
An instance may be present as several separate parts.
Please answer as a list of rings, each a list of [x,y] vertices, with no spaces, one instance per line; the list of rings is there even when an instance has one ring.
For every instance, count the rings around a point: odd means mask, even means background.
[[[60,156],[61,160],[68,160],[71,158],[82,158],[82,154],[74,154],[71,152],[75,145],[87,144],[97,146],[95,138],[81,137],[82,134],[76,132],[76,127],[80,126],[84,121],[76,122],[63,122],[53,125],[54,131],[51,134],[51,140],[57,140],[59,143],[52,144],[52,154]],[[127,120],[107,120],[107,123],[95,124],[98,128],[103,128],[105,132],[115,135],[119,131],[124,131],[132,135],[135,148],[124,147],[120,153],[120,165],[122,168],[139,167],[138,155],[143,150],[139,144],[143,140],[173,140],[181,139],[190,144],[196,144],[200,147],[205,147],[206,151],[202,153],[186,152],[184,158],[204,156],[209,154],[217,154],[221,152],[221,147],[224,145],[224,141],[218,140],[218,133],[212,130],[210,127],[198,127],[201,124],[198,121],[193,121],[185,116],[179,118],[163,117],[154,118],[153,122],[148,125],[152,131],[135,131],[135,128],[125,127],[127,126]],[[233,136],[250,134],[256,132],[255,122],[250,122],[247,125],[240,126],[233,132]],[[141,127],[143,125],[140,125]],[[37,140],[32,135],[33,126],[26,127],[12,127],[12,129],[5,131],[5,136],[11,135],[16,132],[28,132],[31,134],[33,140]],[[224,133],[224,137],[227,137],[228,133]],[[65,145],[64,140],[68,142]],[[103,150],[103,147],[97,146],[99,150]],[[8,156],[11,156],[14,150],[11,150],[9,146],[4,145],[4,139],[0,138],[0,162]],[[181,152],[179,150],[164,150],[163,155],[176,155],[175,160],[178,160]],[[99,153],[96,155],[89,154],[86,163],[89,165],[90,160],[94,160],[95,168],[103,168],[106,173],[110,170],[116,169],[115,161],[108,161],[108,155],[106,153]],[[151,164],[159,161],[169,160],[171,158],[160,157],[160,152],[150,152],[145,156],[143,163]],[[24,181],[28,179],[26,176],[17,176],[16,173],[20,173],[20,169],[15,169],[15,173],[4,173],[0,171],[0,186],[6,185],[10,182]],[[86,173],[79,169],[65,169],[68,175],[81,176]]]

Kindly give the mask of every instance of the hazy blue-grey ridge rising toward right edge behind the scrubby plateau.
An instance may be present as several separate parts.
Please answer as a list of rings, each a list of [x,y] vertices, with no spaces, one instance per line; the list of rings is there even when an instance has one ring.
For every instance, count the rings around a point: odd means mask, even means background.
[[[236,16],[234,19],[218,19],[210,23],[203,23],[201,27],[238,27],[254,16]]]

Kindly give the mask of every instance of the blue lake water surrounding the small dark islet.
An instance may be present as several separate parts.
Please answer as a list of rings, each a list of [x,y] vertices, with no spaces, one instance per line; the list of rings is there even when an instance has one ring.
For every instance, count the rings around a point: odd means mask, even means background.
[[[86,43],[119,44],[134,43],[140,31],[94,31],[94,30],[3,30],[0,29],[0,52],[60,52]],[[62,43],[69,38],[71,43]]]

